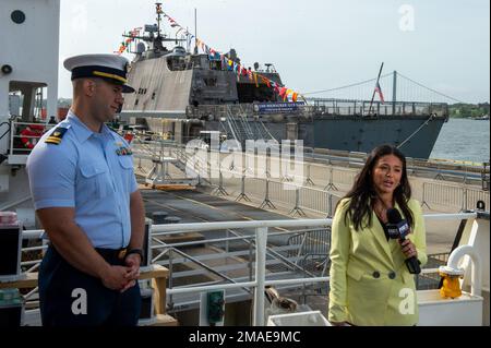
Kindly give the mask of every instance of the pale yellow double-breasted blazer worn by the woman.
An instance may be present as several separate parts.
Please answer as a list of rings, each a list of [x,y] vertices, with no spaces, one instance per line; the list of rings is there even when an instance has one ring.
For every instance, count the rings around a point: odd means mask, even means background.
[[[416,325],[415,277],[404,263],[400,244],[387,241],[374,212],[369,228],[356,231],[349,218],[345,224],[348,202],[339,203],[333,219],[328,320],[354,325]],[[415,221],[408,238],[422,266],[428,261],[424,220],[418,201],[410,200],[408,206]],[[395,207],[404,217],[399,206]]]

